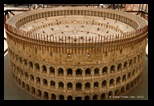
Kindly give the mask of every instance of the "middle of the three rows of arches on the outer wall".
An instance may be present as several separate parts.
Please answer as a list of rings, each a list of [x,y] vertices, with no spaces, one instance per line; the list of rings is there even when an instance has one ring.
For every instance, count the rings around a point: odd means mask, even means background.
[[[11,63],[13,64],[13,63]],[[139,73],[139,68],[136,70],[129,71],[127,74],[124,74],[122,76],[117,76],[116,78],[111,78],[111,79],[104,79],[103,81],[92,81],[92,82],[76,82],[72,83],[70,82],[63,82],[63,81],[54,81],[52,80],[47,80],[46,78],[40,78],[39,76],[29,74],[28,72],[23,72],[19,67],[14,67],[14,65],[11,65],[13,72],[18,75],[20,78],[25,79],[27,81],[30,81],[32,83],[36,83],[38,85],[44,86],[44,87],[49,87],[50,89],[67,89],[67,90],[90,90],[90,89],[102,89],[102,88],[107,88],[110,86],[116,86],[120,85],[123,82],[127,82],[131,77],[134,77],[136,74]]]

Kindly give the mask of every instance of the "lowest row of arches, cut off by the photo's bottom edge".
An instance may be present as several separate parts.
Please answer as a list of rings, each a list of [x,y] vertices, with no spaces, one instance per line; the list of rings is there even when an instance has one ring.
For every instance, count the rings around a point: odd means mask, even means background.
[[[77,96],[77,97],[74,95],[57,94],[56,92],[47,92],[44,90],[42,91],[41,89],[35,88],[34,86],[31,86],[25,83],[15,74],[13,74],[13,78],[20,85],[20,87],[22,87],[23,89],[25,89],[32,95],[37,96],[38,98],[41,98],[41,99],[46,99],[46,100],[106,100],[106,99],[112,99],[112,96],[118,96],[128,91],[131,87],[133,87],[139,81],[140,75],[137,76],[133,81],[127,83],[125,86],[117,88],[113,91],[108,91],[108,92],[104,92],[101,94],[96,93],[93,95],[87,94],[84,96]]]

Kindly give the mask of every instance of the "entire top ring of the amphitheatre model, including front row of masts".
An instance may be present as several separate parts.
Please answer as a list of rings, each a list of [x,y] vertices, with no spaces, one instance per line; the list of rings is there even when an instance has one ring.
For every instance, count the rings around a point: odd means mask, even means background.
[[[51,11],[53,11],[51,14]],[[57,11],[63,11],[62,14],[57,13]],[[97,8],[83,8],[83,7],[63,7],[63,8],[52,8],[52,9],[42,9],[42,10],[33,10],[26,13],[18,14],[7,20],[5,24],[6,32],[10,33],[12,37],[21,40],[26,41],[34,44],[39,45],[45,45],[45,46],[63,46],[64,44],[68,43],[67,46],[76,46],[76,36],[73,36],[71,39],[73,39],[71,42],[67,41],[65,39],[70,39],[70,36],[63,37],[62,41],[61,39],[58,39],[55,36],[52,35],[46,35],[46,34],[37,34],[37,33],[29,33],[23,30],[19,30],[18,27],[21,26],[24,23],[27,23],[29,21],[38,19],[38,18],[45,18],[48,16],[58,16],[58,15],[72,15],[78,13],[78,15],[87,15],[91,16],[103,16],[108,17],[111,19],[116,19],[121,22],[125,22],[126,24],[130,24],[131,26],[134,26],[136,28],[135,31],[124,33],[124,34],[117,34],[112,36],[101,36],[101,37],[87,37],[83,36],[83,39],[86,39],[85,42],[82,42],[81,47],[89,46],[90,43],[98,43],[97,46],[108,46],[108,45],[123,45],[125,43],[131,43],[132,40],[138,40],[141,41],[144,39],[148,34],[148,22],[144,19],[142,19],[139,16],[131,15],[125,12],[116,11],[116,10],[107,10],[107,9],[97,9]],[[102,13],[101,13],[102,12]],[[111,14],[108,14],[111,13]],[[39,14],[39,15],[38,15]],[[28,19],[26,19],[29,17]],[[130,19],[130,20],[129,20]],[[131,21],[132,20],[132,21]],[[137,24],[132,24],[133,22]],[[21,23],[21,24],[19,24]],[[17,26],[15,26],[17,25]],[[49,39],[45,40],[47,37]],[[51,43],[52,42],[52,43]],[[54,44],[58,43],[58,44]],[[73,45],[70,43],[74,43]],[[89,44],[87,44],[89,43]],[[91,44],[90,44],[91,45]]]

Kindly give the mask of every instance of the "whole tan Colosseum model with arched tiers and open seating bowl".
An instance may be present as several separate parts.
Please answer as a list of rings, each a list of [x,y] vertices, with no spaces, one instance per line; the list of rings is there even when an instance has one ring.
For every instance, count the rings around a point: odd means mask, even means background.
[[[148,22],[117,10],[57,7],[5,24],[13,78],[43,100],[108,100],[140,81]]]

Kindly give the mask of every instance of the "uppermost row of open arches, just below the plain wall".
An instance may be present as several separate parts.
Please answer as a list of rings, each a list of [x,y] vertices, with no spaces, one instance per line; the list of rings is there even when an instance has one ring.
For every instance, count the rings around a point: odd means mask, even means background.
[[[16,57],[15,61],[19,61],[23,66],[28,67],[30,70],[41,72],[46,75],[51,76],[67,76],[67,77],[78,77],[78,76],[99,76],[99,75],[109,75],[116,72],[122,72],[123,70],[127,69],[128,67],[132,67],[135,63],[140,62],[140,58],[142,53],[139,54],[137,57],[130,59],[129,61],[125,61],[124,63],[119,63],[117,65],[111,66],[104,66],[102,68],[96,67],[94,69],[91,68],[65,68],[59,67],[55,68],[53,66],[46,66],[46,65],[39,65],[38,63],[33,63],[32,61],[27,61],[26,59],[22,59],[21,57],[15,56],[14,53],[10,51],[11,56]],[[12,55],[13,54],[13,55]],[[137,61],[138,60],[138,61]]]

